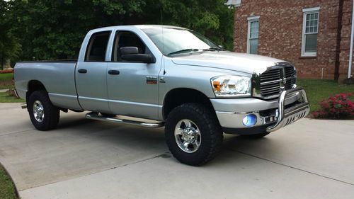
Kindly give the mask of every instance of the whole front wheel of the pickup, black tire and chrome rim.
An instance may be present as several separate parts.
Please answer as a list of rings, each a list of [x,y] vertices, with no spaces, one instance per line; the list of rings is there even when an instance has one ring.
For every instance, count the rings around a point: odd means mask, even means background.
[[[215,113],[198,103],[174,108],[166,120],[165,135],[173,157],[192,166],[210,161],[222,147],[222,128]]]

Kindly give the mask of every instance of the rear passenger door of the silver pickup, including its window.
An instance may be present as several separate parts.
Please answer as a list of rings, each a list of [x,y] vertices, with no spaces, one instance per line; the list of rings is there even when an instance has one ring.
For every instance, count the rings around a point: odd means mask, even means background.
[[[86,47],[84,60],[76,67],[76,90],[84,110],[109,113],[107,94],[107,62],[110,31],[94,33]]]

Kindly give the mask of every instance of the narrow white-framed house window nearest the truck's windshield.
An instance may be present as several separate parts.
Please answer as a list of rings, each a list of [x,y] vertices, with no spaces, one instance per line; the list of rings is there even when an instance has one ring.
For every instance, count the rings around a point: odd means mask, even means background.
[[[258,54],[258,29],[259,16],[247,18],[249,21],[249,31],[247,34],[247,53]]]

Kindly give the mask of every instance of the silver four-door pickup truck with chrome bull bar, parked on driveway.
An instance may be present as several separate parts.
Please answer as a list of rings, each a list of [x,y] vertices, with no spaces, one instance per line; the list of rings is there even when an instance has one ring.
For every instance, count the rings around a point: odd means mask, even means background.
[[[91,30],[77,62],[18,62],[15,84],[38,130],[55,128],[60,110],[165,126],[173,156],[193,166],[215,157],[223,133],[259,138],[309,113],[289,62],[228,52],[193,30],[165,25]]]

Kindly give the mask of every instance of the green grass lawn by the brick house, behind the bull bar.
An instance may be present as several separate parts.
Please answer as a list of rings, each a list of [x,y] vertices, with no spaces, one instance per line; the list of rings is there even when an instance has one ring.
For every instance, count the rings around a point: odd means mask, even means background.
[[[298,79],[297,85],[304,87],[309,98],[311,111],[319,109],[319,103],[338,93],[353,93],[354,85],[342,85],[333,80]],[[350,98],[354,101],[354,96]]]

